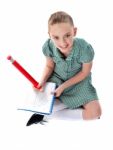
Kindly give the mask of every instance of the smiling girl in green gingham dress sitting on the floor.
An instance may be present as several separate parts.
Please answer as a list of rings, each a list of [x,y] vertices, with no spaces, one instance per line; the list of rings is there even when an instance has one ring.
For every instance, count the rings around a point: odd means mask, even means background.
[[[57,101],[69,108],[69,113],[74,115],[75,109],[82,107],[79,114],[84,120],[97,119],[101,116],[101,107],[91,82],[94,50],[84,39],[76,38],[76,33],[69,14],[58,11],[50,16],[50,38],[43,45],[46,66],[40,86],[43,90],[47,81],[55,82]],[[68,112],[65,115],[68,116]],[[36,118],[38,114],[33,116]]]

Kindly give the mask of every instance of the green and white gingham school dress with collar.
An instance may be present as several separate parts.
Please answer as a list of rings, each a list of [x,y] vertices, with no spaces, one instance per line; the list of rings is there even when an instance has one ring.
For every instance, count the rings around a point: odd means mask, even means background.
[[[42,50],[44,55],[51,57],[55,63],[54,72],[48,81],[55,82],[57,86],[75,76],[81,71],[83,63],[91,62],[94,58],[92,46],[79,38],[74,39],[72,51],[66,58],[50,39],[44,43]],[[81,82],[65,89],[59,99],[70,109],[98,100],[96,89],[91,82],[91,73]]]

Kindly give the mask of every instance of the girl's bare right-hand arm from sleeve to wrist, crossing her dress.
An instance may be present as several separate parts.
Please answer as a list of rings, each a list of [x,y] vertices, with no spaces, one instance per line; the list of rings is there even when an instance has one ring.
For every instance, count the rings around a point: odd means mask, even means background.
[[[82,70],[75,75],[74,77],[70,78],[66,82],[64,82],[61,86],[63,89],[66,89],[74,84],[77,84],[78,82],[84,80],[90,73],[92,68],[92,62],[90,63],[84,63],[82,66]]]

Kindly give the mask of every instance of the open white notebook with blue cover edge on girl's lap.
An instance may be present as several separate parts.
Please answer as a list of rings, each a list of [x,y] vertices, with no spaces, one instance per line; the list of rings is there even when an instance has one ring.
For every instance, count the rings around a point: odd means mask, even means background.
[[[18,110],[46,115],[51,114],[54,104],[54,95],[51,92],[55,90],[55,87],[55,83],[47,82],[43,92],[31,89]]]

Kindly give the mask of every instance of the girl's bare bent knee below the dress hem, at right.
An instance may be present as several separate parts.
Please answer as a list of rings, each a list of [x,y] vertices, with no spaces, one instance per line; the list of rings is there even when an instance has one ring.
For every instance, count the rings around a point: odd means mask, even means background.
[[[83,119],[98,119],[101,116],[101,107],[97,100],[91,101],[83,106]]]

